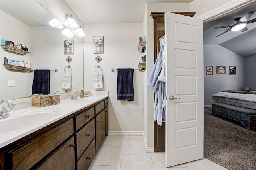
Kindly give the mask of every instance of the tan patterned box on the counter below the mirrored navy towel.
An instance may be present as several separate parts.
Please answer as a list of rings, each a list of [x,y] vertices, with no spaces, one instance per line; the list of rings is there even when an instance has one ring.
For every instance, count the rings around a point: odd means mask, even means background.
[[[44,107],[60,103],[60,95],[32,97],[32,107]]]

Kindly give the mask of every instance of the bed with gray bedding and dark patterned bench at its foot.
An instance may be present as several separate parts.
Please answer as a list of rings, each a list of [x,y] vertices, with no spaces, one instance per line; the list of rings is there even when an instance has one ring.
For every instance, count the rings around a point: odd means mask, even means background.
[[[212,96],[212,115],[222,115],[256,130],[256,92],[226,90]]]

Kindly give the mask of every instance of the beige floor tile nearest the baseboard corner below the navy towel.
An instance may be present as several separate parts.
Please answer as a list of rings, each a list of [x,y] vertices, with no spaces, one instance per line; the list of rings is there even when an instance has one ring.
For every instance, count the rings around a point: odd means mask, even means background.
[[[146,152],[144,140],[124,140],[123,154],[150,155]]]

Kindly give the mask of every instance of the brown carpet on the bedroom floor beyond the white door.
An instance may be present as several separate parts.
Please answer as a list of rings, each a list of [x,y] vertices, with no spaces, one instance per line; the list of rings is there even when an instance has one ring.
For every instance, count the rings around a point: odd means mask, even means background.
[[[256,170],[256,131],[204,108],[204,158],[228,170]]]

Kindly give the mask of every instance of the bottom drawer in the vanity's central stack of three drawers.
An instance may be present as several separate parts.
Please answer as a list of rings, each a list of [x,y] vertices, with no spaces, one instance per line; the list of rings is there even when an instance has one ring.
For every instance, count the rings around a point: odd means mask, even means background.
[[[92,163],[92,160],[95,156],[95,139],[90,143],[89,147],[86,149],[84,154],[77,162],[78,170],[87,170]]]

